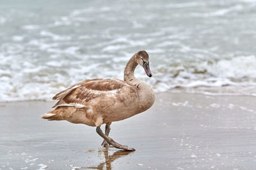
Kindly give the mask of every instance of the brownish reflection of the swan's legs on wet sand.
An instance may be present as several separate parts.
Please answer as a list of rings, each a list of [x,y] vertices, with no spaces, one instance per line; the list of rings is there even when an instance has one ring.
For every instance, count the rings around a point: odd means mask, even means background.
[[[108,153],[108,150],[101,150],[99,151],[99,154],[104,153],[104,157],[105,157],[105,162],[102,162],[99,164],[99,166],[97,167],[87,167],[88,169],[105,169],[104,167],[106,167],[107,170],[111,170],[111,163],[120,158],[120,157],[124,157],[125,155],[129,155],[132,152],[129,151],[122,151],[122,150],[118,150],[116,152],[114,152],[112,155],[110,155]],[[105,166],[106,165],[106,166]]]

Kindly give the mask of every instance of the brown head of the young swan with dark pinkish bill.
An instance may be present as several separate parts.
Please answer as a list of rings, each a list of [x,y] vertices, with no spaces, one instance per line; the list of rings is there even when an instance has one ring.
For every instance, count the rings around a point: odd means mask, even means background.
[[[136,54],[137,54],[135,57],[136,62],[144,68],[147,76],[151,77],[152,73],[149,68],[148,53],[143,50]]]

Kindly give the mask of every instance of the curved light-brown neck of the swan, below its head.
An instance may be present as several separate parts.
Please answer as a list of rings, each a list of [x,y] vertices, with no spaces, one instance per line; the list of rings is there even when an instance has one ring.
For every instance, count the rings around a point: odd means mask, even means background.
[[[124,81],[132,81],[136,79],[134,77],[134,70],[138,66],[138,63],[135,60],[136,54],[134,54],[131,59],[127,62],[124,69]]]

